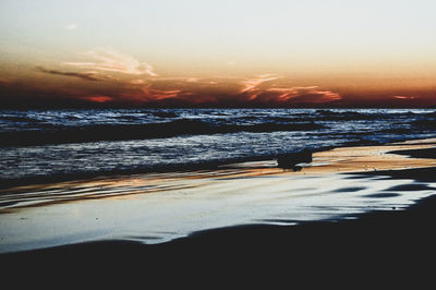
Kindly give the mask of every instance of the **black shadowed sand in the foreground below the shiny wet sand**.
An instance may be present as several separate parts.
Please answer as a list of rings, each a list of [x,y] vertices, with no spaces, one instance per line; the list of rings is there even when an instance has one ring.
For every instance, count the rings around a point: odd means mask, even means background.
[[[401,154],[436,158],[428,148]],[[379,170],[355,178],[372,174],[415,180],[400,189],[411,192],[436,182],[436,167]],[[239,287],[263,280],[267,289],[278,281],[287,282],[287,288],[296,282],[327,287],[331,281],[350,281],[350,289],[379,289],[411,278],[417,286],[433,279],[435,222],[436,196],[429,196],[407,210],[373,212],[352,220],[229,227],[150,245],[106,241],[1,254],[0,266],[3,279],[19,274],[12,279],[16,283],[36,276],[33,282],[43,285],[61,277],[63,286],[87,278],[107,283],[121,277],[143,286],[154,281],[185,288],[206,282],[206,289],[234,288],[234,278]]]

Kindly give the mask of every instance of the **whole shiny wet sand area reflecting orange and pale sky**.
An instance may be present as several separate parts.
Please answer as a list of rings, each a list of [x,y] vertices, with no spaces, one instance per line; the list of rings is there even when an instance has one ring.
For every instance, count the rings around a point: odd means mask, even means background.
[[[105,239],[159,243],[218,227],[292,225],[403,208],[434,194],[436,184],[348,173],[436,167],[435,159],[395,154],[434,144],[319,152],[296,172],[269,160],[12,188],[0,194],[0,252]]]

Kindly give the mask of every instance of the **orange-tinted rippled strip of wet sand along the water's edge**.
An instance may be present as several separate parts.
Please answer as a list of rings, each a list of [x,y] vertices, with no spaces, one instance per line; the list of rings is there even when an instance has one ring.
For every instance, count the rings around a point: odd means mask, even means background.
[[[3,190],[0,213],[12,208],[46,206],[94,198],[131,198],[131,195],[198,188],[215,181],[270,176],[308,176],[335,172],[365,172],[376,170],[422,168],[436,166],[435,159],[409,158],[390,152],[433,148],[433,140],[386,146],[344,147],[314,154],[314,161],[301,171],[277,168],[275,160],[222,166],[216,170],[148,173],[112,178],[97,178],[55,184],[17,186]],[[353,191],[339,189],[338,191]]]

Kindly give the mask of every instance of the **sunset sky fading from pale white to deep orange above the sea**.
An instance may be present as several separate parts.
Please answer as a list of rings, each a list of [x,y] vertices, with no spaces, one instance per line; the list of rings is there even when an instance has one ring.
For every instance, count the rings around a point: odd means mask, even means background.
[[[0,106],[428,107],[433,0],[1,0]]]

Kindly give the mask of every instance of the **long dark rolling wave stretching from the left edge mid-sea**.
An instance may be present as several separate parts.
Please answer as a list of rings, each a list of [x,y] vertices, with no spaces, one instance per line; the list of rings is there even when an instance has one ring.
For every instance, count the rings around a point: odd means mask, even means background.
[[[214,124],[196,119],[179,119],[149,124],[101,124],[58,128],[52,130],[24,130],[0,132],[0,146],[33,146],[46,144],[84,143],[162,138],[178,135],[225,134],[237,132],[313,131],[323,129],[314,122]]]

